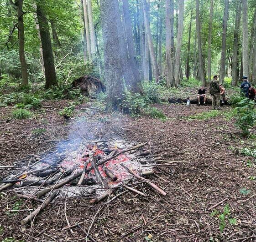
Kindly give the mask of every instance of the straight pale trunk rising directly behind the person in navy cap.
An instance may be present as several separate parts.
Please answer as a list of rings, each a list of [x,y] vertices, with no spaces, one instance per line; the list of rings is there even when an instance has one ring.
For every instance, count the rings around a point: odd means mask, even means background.
[[[243,76],[248,76],[249,81],[249,47],[248,47],[248,3],[247,0],[242,0],[243,13]]]

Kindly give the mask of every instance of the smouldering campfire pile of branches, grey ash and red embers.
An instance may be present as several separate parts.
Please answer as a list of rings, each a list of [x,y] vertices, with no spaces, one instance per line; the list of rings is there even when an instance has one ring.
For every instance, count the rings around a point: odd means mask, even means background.
[[[138,149],[146,143],[133,147],[124,146],[122,143],[81,143],[76,149],[60,149],[42,158],[36,157],[37,159],[34,159],[32,164],[29,162],[26,168],[20,167],[22,171],[16,171],[16,174],[1,180],[0,183],[4,185],[0,187],[0,191],[15,187],[8,192],[15,192],[17,197],[41,203],[21,221],[22,225],[34,221],[37,214],[55,201],[57,196],[89,197],[91,203],[108,198],[110,202],[124,193],[121,192],[110,199],[111,193],[120,187],[146,196],[145,193],[129,186],[129,183],[136,180],[146,183],[165,196],[166,192],[145,178],[154,174],[149,170],[150,166],[141,166],[141,163],[146,163],[145,156],[150,152]],[[15,170],[13,171],[15,173]]]

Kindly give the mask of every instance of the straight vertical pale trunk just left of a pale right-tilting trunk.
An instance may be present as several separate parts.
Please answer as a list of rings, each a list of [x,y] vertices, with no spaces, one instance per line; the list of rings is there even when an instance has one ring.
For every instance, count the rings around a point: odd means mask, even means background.
[[[174,86],[172,81],[172,35],[171,35],[171,0],[165,2],[166,24],[166,86]]]

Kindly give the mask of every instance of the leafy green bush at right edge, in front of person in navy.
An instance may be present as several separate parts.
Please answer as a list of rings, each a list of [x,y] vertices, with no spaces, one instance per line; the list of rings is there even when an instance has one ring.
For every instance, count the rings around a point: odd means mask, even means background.
[[[234,109],[235,126],[242,131],[243,136],[248,136],[249,129],[256,123],[255,102],[248,98],[237,101],[234,102],[236,105]]]

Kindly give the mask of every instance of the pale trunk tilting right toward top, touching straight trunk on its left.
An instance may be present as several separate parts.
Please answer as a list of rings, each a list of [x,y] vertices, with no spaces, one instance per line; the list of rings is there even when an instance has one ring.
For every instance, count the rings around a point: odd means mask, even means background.
[[[180,52],[182,45],[182,36],[183,36],[183,15],[184,15],[184,0],[179,0],[179,15],[178,15],[178,33],[177,33],[177,44],[175,51],[175,64],[173,70],[173,79],[175,82],[175,86],[180,84],[182,79],[182,73],[180,73]]]

